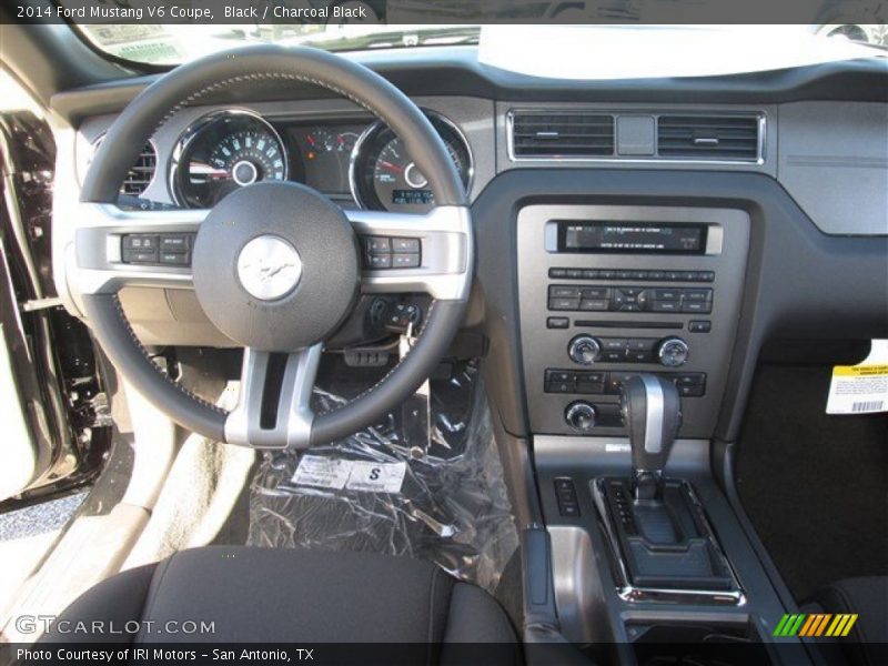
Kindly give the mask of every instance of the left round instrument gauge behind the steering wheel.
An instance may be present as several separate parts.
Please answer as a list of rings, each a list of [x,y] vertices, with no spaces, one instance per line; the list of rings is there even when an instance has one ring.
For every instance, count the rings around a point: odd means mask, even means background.
[[[286,180],[286,149],[274,128],[250,111],[212,113],[189,128],[173,153],[174,199],[211,208],[238,188]]]

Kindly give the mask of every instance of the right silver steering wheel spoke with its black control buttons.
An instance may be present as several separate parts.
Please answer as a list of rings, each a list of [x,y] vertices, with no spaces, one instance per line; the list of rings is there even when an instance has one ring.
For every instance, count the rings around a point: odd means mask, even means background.
[[[468,209],[442,205],[423,215],[375,211],[345,214],[362,244],[362,292],[423,292],[442,301],[468,297]]]

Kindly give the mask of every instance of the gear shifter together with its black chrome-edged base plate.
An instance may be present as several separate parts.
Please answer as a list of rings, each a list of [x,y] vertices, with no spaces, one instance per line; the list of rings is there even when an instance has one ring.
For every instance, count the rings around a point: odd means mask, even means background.
[[[675,385],[653,374],[623,384],[632,473],[595,481],[594,498],[626,601],[708,597],[738,604],[743,593],[692,485],[664,475],[682,421]]]

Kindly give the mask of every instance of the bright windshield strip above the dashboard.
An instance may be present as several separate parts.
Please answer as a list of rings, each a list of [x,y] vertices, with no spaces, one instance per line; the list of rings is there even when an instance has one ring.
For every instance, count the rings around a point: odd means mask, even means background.
[[[597,46],[616,50],[627,50],[628,54],[644,54],[645,58],[629,58],[647,65],[663,62],[664,57],[674,59],[685,53],[697,67],[706,64],[699,58],[705,49],[710,56],[727,54],[736,47],[738,62],[728,69],[754,71],[770,69],[753,64],[760,60],[763,47],[787,52],[796,51],[795,64],[814,62],[821,58],[847,59],[874,56],[876,49],[861,49],[861,46],[879,47],[888,44],[886,26],[821,24],[821,26],[482,26],[476,24],[317,24],[317,23],[249,23],[249,24],[85,24],[82,33],[102,51],[130,61],[152,65],[172,65],[188,62],[212,52],[233,47],[274,42],[281,44],[305,44],[329,51],[359,51],[374,49],[422,49],[426,47],[482,44],[482,52],[493,48],[509,52],[505,62],[494,62],[497,67],[512,69],[515,62],[529,59],[531,69],[543,61],[535,49],[527,44],[545,42],[547,49],[567,48],[576,54],[576,49],[587,50]],[[558,34],[554,34],[557,31]],[[727,41],[725,41],[727,40]],[[568,47],[569,44],[569,47]],[[750,49],[751,44],[756,49]],[[820,44],[820,46],[818,46]],[[789,48],[791,47],[791,48]],[[804,47],[804,48],[803,48]],[[652,52],[653,51],[653,52]],[[824,57],[823,53],[829,52]],[[838,56],[837,56],[838,54]],[[613,67],[606,53],[589,53],[595,61],[583,60],[586,65],[604,62]],[[649,58],[648,58],[649,56]],[[604,57],[604,61],[599,60]],[[562,63],[577,62],[569,53],[564,54]],[[744,60],[748,67],[744,67]],[[628,62],[620,60],[619,62]],[[787,65],[790,63],[786,63]],[[712,65],[712,63],[709,63]],[[558,65],[561,69],[561,65]],[[585,67],[585,65],[584,65]],[[702,71],[683,72],[686,74]],[[528,72],[531,73],[531,72]],[[537,72],[532,72],[537,73]],[[565,75],[565,71],[561,72]],[[672,72],[677,74],[679,72]]]

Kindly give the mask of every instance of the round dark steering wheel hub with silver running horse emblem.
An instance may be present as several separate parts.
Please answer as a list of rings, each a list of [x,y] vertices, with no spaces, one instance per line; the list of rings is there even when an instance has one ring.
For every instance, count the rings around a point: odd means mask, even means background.
[[[193,244],[194,291],[229,339],[294,352],[330,337],[357,299],[361,248],[327,196],[262,181],[222,199]],[[384,255],[383,255],[384,256]]]

